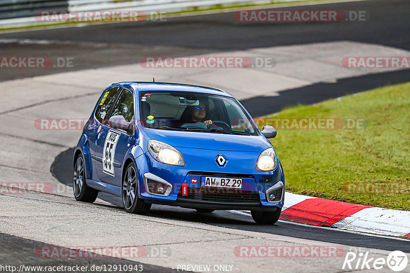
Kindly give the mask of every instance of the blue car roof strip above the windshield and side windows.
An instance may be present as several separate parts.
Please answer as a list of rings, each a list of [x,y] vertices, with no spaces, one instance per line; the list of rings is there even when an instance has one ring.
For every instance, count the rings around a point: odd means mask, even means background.
[[[213,95],[222,95],[232,97],[226,91],[206,87],[206,86],[199,86],[199,85],[191,85],[191,84],[181,84],[181,83],[170,83],[170,82],[118,82],[110,84],[112,85],[128,85],[132,87],[136,92],[144,92],[144,91],[182,91],[182,92],[197,92],[197,93],[207,93]],[[109,87],[107,86],[107,87]]]

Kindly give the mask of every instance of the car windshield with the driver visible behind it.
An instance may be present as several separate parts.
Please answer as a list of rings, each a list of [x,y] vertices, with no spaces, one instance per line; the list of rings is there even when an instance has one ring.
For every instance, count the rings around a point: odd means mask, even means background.
[[[257,135],[236,100],[190,92],[140,92],[141,123],[147,128]]]

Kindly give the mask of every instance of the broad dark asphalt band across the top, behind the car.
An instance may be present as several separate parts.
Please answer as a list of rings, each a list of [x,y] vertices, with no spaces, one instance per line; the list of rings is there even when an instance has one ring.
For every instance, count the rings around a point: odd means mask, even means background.
[[[408,0],[345,2],[285,9],[360,10],[368,12],[370,18],[364,22],[243,22],[236,21],[233,13],[227,12],[166,18],[166,21],[122,22],[32,30],[2,34],[0,38],[127,43],[150,47],[159,45],[218,51],[350,40],[410,50]],[[118,54],[121,55],[121,52]],[[115,61],[113,56],[106,57]]]

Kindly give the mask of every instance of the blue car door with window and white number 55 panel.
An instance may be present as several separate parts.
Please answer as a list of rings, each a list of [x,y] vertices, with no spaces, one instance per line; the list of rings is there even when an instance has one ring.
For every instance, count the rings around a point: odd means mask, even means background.
[[[130,132],[115,128],[111,124],[110,118],[122,116],[130,124],[130,128],[133,127],[135,121],[134,105],[132,92],[122,88],[109,113],[108,123],[101,127],[100,140],[96,146],[97,155],[102,158],[101,168],[97,169],[100,181],[121,186],[122,168],[126,167],[122,166],[122,162],[133,141],[133,130]]]

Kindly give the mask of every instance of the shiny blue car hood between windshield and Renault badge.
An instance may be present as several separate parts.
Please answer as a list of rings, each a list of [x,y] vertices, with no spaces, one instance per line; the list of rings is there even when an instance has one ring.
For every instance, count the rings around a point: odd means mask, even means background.
[[[173,147],[187,147],[218,151],[262,152],[271,147],[263,135],[234,135],[211,132],[189,132],[144,128],[152,140]]]

